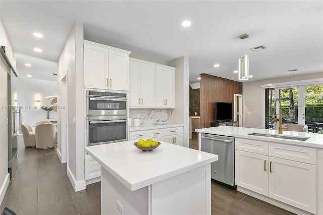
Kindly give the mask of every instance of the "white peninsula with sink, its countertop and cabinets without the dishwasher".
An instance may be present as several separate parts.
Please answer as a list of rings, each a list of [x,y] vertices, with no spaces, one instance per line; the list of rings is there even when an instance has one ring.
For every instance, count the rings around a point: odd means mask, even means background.
[[[201,133],[235,137],[240,192],[296,214],[323,214],[323,134],[219,126]]]

